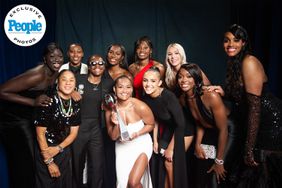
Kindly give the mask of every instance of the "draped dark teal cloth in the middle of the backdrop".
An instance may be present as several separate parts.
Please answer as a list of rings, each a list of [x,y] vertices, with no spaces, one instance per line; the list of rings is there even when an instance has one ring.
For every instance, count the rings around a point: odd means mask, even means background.
[[[56,14],[57,41],[65,49],[71,42],[81,43],[85,57],[104,55],[111,43],[121,43],[132,62],[134,41],[148,35],[156,60],[163,62],[168,44],[178,42],[188,61],[198,63],[212,80],[224,77],[221,40],[230,23],[228,1],[64,0],[57,1]]]

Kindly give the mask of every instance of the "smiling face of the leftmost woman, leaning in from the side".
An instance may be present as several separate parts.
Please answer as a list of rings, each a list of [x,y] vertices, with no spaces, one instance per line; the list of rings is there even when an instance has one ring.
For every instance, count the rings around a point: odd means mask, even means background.
[[[61,50],[54,49],[45,55],[44,61],[51,71],[58,72],[64,63],[64,56]]]

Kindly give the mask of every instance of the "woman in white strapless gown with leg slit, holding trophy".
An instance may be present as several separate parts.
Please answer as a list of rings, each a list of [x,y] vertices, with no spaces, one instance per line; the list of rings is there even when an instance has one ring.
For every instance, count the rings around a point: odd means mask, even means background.
[[[142,101],[133,98],[132,81],[125,75],[116,79],[116,108],[105,108],[109,136],[116,140],[116,173],[118,188],[152,188],[149,160],[152,155],[154,115]],[[122,140],[117,113],[126,125],[129,140]]]

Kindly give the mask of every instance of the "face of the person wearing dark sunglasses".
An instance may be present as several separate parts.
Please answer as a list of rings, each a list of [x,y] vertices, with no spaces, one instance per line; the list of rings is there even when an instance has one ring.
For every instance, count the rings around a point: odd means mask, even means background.
[[[105,62],[102,57],[97,55],[91,56],[88,60],[88,69],[93,76],[102,76],[105,71]]]

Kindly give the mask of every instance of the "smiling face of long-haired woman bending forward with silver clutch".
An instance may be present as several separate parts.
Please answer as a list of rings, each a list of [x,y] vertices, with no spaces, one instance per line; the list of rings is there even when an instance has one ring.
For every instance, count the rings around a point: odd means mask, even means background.
[[[195,81],[186,69],[180,68],[177,78],[178,85],[183,92],[193,92]]]

